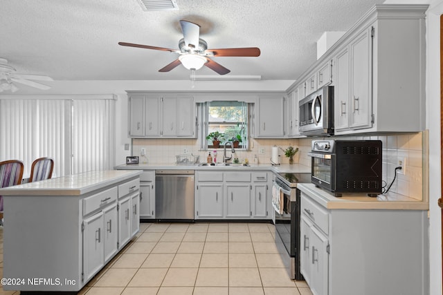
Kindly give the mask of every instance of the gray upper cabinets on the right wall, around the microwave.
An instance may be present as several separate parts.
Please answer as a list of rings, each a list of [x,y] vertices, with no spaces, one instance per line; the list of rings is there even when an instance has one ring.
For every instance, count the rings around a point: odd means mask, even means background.
[[[289,93],[297,90],[300,99],[314,82],[316,88],[334,86],[335,135],[424,130],[427,8],[374,6]]]

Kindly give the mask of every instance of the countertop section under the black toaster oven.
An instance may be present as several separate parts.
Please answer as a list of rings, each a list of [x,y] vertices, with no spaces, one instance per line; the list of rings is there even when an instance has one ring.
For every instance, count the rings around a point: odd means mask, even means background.
[[[415,200],[398,193],[386,193],[377,197],[343,194],[342,197],[320,189],[311,183],[297,184],[297,188],[313,198],[326,209],[392,209],[392,210],[428,210],[428,202]]]

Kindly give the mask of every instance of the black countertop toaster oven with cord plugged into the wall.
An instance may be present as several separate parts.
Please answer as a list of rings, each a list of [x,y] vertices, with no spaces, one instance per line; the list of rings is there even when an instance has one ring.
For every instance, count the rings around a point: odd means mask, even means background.
[[[381,193],[380,140],[313,140],[311,182],[342,193]]]

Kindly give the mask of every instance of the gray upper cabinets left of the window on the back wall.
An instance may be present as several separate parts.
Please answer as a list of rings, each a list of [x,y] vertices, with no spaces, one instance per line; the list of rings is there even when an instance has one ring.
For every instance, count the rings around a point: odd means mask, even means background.
[[[129,137],[196,137],[192,96],[129,93]]]

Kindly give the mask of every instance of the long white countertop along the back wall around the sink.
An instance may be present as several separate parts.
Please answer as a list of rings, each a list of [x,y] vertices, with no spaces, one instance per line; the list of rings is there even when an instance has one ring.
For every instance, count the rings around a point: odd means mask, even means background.
[[[266,170],[275,173],[311,173],[311,167],[302,164],[231,164],[230,166],[198,166],[197,165],[177,165],[177,164],[123,164],[115,166],[118,170],[195,170],[195,171],[215,171],[215,170]]]

